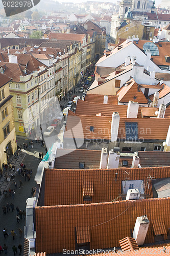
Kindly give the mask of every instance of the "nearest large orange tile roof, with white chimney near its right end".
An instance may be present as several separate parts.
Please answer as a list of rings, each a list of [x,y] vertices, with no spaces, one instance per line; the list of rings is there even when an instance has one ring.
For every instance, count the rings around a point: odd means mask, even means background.
[[[52,190],[50,194],[56,195]],[[35,207],[36,250],[75,250],[75,227],[88,226],[90,249],[118,247],[119,240],[130,237],[136,218],[145,214],[150,221],[145,243],[154,243],[153,223],[161,220],[167,232],[169,208],[170,198]]]

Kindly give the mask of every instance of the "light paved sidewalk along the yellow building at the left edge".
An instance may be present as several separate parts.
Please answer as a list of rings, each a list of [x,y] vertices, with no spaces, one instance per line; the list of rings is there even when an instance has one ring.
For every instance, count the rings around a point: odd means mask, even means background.
[[[9,159],[9,162],[11,163],[11,165],[15,165],[15,172],[13,172],[13,170],[7,170],[7,172],[5,172],[3,170],[3,177],[0,178],[0,203],[2,202],[3,198],[4,198],[4,195],[3,195],[3,191],[4,189],[6,189],[8,191],[11,183],[12,183],[12,180],[10,181],[6,181],[6,178],[5,178],[5,173],[8,174],[8,176],[10,177],[11,174],[13,174],[15,177],[17,175],[17,168],[20,166],[20,163],[23,161],[23,159],[25,158],[25,156],[27,155],[27,151],[25,150],[22,150],[21,152],[19,151],[18,152],[18,158],[16,159],[14,155],[12,155]]]

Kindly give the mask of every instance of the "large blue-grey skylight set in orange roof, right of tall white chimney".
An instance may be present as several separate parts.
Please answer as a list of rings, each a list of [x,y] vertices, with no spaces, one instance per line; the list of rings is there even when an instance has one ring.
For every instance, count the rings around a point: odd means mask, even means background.
[[[137,141],[138,140],[137,122],[125,122],[125,125],[126,125],[126,140]]]

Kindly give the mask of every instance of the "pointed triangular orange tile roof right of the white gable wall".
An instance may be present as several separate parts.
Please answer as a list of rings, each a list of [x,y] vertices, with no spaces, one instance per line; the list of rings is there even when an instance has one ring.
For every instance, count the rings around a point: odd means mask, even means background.
[[[147,104],[148,100],[140,90],[138,84],[132,79],[132,82],[128,86],[121,87],[117,91],[119,102],[129,102],[133,100],[134,102]]]

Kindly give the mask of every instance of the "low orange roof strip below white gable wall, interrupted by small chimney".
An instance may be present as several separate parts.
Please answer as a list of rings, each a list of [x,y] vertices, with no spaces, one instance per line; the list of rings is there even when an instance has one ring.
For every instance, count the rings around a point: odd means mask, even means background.
[[[108,104],[117,105],[117,95],[108,95]],[[85,101],[103,103],[104,95],[101,94],[86,94]]]

